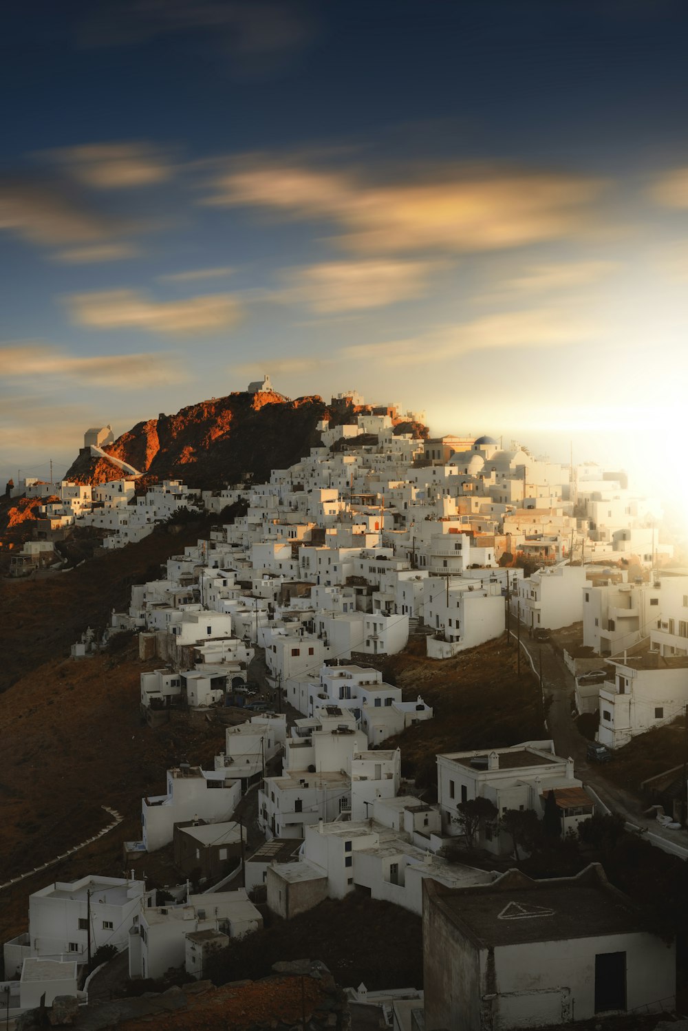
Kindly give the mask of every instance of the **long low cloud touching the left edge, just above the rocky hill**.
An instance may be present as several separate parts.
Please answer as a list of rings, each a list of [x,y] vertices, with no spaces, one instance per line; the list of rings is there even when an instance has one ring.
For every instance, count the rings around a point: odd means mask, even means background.
[[[66,355],[50,344],[35,342],[0,346],[0,369],[3,376],[8,379],[57,376],[84,384],[131,389],[180,383],[185,378],[174,355],[79,357]]]

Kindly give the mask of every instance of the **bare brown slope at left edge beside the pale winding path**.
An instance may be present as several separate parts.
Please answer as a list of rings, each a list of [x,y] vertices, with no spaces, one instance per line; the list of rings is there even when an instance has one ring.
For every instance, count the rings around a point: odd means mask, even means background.
[[[124,822],[99,841],[0,893],[0,939],[25,930],[27,897],[51,879],[99,871],[119,876],[122,842],[141,836],[141,797],[165,790],[165,770],[183,758],[212,767],[219,725],[173,722],[151,730],[139,717],[137,644],[122,654],[50,661],[0,695],[0,882],[33,869]]]

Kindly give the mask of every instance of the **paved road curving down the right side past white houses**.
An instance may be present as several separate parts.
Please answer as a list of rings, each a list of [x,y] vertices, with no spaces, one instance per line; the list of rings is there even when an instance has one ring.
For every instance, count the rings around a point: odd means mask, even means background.
[[[512,617],[513,620],[513,617]],[[512,631],[514,638],[516,634]],[[515,640],[514,640],[515,644]],[[586,757],[586,740],[579,734],[576,721],[572,719],[572,699],[576,681],[566,666],[550,644],[538,644],[527,636],[527,630],[521,624],[521,663],[530,660],[536,673],[540,671],[542,660],[543,694],[551,696],[547,712],[547,728],[554,740],[558,756],[574,760],[576,775],[592,788],[600,801],[613,812],[618,812],[624,820],[646,832],[651,832],[663,841],[682,849],[688,849],[688,832],[673,831],[651,817],[646,817],[643,802],[630,792],[624,791],[608,780],[603,768],[595,763],[589,763]]]

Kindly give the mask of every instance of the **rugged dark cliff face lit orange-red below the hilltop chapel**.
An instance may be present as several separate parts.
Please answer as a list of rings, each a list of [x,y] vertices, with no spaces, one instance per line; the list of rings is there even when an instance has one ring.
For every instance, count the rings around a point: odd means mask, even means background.
[[[315,427],[325,412],[317,396],[288,401],[269,392],[230,394],[138,423],[104,451],[144,473],[141,488],[174,478],[212,490],[247,473],[260,483],[320,442]],[[119,476],[119,469],[85,450],[66,474],[80,484]]]

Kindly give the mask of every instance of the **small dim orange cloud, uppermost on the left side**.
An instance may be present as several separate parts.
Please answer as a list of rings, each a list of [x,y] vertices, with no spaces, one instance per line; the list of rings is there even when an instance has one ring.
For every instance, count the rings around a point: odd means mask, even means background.
[[[93,190],[156,186],[172,175],[168,160],[148,143],[92,143],[48,154]]]

